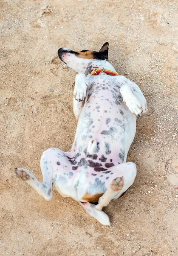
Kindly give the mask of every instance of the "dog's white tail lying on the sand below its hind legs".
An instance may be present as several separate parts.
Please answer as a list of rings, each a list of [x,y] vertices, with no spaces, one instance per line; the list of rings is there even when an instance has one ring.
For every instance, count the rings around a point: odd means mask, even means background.
[[[96,218],[102,225],[110,226],[110,220],[107,214],[103,211],[97,211],[95,204],[90,204],[88,202],[79,202],[79,204],[82,205],[82,207],[88,212],[90,216],[93,218]]]

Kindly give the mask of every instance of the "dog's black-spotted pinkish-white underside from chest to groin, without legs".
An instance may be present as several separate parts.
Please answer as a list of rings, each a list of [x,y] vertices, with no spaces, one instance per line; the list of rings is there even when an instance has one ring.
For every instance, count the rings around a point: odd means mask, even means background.
[[[106,76],[89,79],[88,84],[71,159],[54,182],[61,195],[77,201],[86,201],[90,194],[101,196],[114,178],[122,176],[117,166],[126,161],[136,132],[136,116],[123,103],[121,84]],[[127,188],[129,177],[125,183]]]

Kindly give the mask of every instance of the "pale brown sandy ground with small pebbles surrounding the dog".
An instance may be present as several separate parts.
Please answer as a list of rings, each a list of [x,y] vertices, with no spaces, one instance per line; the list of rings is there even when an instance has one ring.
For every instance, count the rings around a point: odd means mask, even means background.
[[[0,18],[0,256],[178,255],[178,2],[1,0]],[[127,158],[135,183],[105,208],[111,227],[14,177],[18,166],[42,181],[42,152],[71,148],[76,73],[57,50],[99,50],[106,41],[109,61],[149,108]]]

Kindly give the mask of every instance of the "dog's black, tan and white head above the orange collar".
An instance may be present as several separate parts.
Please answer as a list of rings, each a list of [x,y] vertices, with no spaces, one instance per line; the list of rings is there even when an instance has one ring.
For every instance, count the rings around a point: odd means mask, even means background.
[[[68,65],[68,67],[78,73],[84,73],[85,76],[88,76],[97,68],[110,68],[114,71],[112,65],[107,61],[108,47],[109,44],[106,42],[99,52],[88,50],[75,52],[71,49],[60,48],[58,50],[58,56],[62,62]]]

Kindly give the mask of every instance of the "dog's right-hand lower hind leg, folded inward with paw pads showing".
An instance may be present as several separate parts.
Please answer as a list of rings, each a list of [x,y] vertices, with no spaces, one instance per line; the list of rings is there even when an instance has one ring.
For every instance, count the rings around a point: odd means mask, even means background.
[[[96,210],[101,211],[102,207],[107,206],[114,196],[123,188],[124,177],[117,177],[112,181],[104,195],[99,198],[99,202],[96,205]]]

